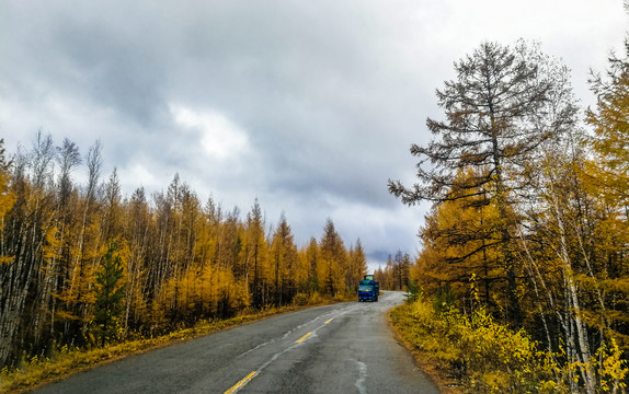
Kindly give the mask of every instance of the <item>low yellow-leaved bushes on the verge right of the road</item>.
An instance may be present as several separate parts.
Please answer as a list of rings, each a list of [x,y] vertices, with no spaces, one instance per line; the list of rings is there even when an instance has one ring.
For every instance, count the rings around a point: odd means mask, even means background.
[[[561,366],[557,360],[564,355],[540,350],[526,332],[506,328],[482,309],[471,315],[456,309],[436,313],[430,300],[419,300],[390,315],[422,357],[437,361],[446,374],[459,371],[469,393],[564,393],[569,376],[580,367]],[[599,348],[591,364],[599,375],[601,392],[625,387],[629,369],[615,341]]]

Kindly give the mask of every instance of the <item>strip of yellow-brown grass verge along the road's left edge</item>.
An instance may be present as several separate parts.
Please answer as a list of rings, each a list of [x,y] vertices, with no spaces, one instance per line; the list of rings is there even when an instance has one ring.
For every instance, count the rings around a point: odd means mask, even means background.
[[[204,320],[197,322],[193,327],[179,329],[159,337],[107,344],[102,348],[72,349],[65,346],[55,349],[46,358],[38,356],[26,357],[16,369],[4,368],[0,371],[0,394],[23,393],[43,384],[62,380],[77,372],[93,369],[128,356],[218,333],[266,317],[350,300],[354,300],[354,298],[350,299],[346,294],[338,296],[332,300],[318,294],[314,297],[300,297],[294,300],[293,305],[268,308],[263,311],[244,311],[241,315],[228,320]]]

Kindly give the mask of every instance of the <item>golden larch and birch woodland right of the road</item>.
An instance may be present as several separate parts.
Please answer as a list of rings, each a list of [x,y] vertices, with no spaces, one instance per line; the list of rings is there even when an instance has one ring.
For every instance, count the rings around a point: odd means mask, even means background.
[[[418,183],[389,181],[402,202],[433,204],[410,280],[434,299],[433,316],[450,327],[485,329],[487,344],[500,327],[535,341],[537,347],[517,339],[541,351],[540,363],[558,366],[548,369],[548,392],[622,391],[629,359],[629,38],[607,70],[592,71],[596,104],[588,108],[574,97],[568,68],[536,43],[483,43],[455,62],[455,73],[436,91],[443,119],[426,120],[432,140],[411,147]],[[450,334],[460,344],[465,331]],[[525,345],[512,339],[513,359]],[[453,366],[473,369],[473,354],[485,345],[453,356]],[[539,376],[528,386],[514,383],[516,372],[530,372],[530,359],[521,367],[495,367],[504,371],[502,390],[542,391]]]

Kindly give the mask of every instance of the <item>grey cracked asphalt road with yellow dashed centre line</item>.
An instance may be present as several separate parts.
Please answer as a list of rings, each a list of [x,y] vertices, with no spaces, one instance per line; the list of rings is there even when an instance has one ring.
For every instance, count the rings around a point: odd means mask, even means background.
[[[34,393],[438,393],[393,338],[403,300],[308,309],[112,362]]]

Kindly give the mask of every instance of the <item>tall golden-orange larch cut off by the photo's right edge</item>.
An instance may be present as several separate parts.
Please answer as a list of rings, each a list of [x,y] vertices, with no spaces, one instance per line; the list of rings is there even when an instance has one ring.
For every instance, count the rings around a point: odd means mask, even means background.
[[[629,12],[629,4],[625,4]],[[595,198],[594,209],[580,204],[576,227],[580,254],[575,281],[585,282],[590,300],[583,312],[599,331],[599,340],[616,340],[627,352],[629,318],[629,36],[625,53],[613,54],[605,73],[593,72],[591,90],[596,105],[586,112],[593,134],[586,147],[593,153],[577,167],[579,181]],[[591,198],[592,198],[591,197]],[[592,206],[592,204],[591,204]],[[575,215],[576,216],[576,215]],[[587,300],[587,299],[586,299]]]

